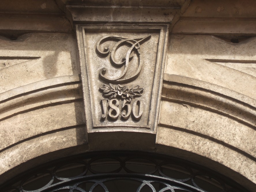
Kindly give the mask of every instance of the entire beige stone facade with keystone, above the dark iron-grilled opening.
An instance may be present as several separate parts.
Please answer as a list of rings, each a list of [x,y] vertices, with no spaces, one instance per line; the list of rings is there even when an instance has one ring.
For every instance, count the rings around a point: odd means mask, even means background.
[[[61,157],[136,150],[256,191],[255,7],[2,0],[1,183]]]

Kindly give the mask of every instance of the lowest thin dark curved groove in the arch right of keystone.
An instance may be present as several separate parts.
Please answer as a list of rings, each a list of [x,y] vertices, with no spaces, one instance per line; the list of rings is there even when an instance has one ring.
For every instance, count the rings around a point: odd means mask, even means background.
[[[213,142],[219,143],[219,144],[221,144],[221,145],[223,145],[223,146],[225,146],[225,147],[227,147],[227,148],[230,148],[231,150],[234,150],[234,151],[236,151],[237,153],[240,153],[240,154],[244,155],[245,157],[247,157],[247,158],[249,158],[249,159],[251,159],[251,160],[253,160],[253,161],[256,162],[256,158],[253,157],[252,155],[250,155],[250,154],[244,152],[243,150],[241,150],[241,149],[239,149],[239,148],[236,148],[236,147],[234,147],[234,146],[232,146],[232,145],[230,145],[230,144],[228,144],[228,143],[226,143],[226,142],[223,142],[223,141],[221,141],[221,140],[218,140],[218,139],[216,139],[216,138],[210,137],[210,136],[208,136],[208,135],[204,135],[204,134],[202,134],[202,133],[198,133],[198,132],[196,132],[196,131],[184,129],[184,128],[181,128],[181,127],[174,127],[174,126],[166,125],[166,124],[162,124],[162,123],[159,123],[159,125],[160,125],[161,127],[166,127],[166,128],[170,128],[170,129],[175,129],[175,130],[178,130],[178,131],[183,131],[183,132],[185,132],[185,133],[197,135],[197,136],[202,137],[202,138],[206,138],[206,139],[211,140],[211,141],[213,141]]]

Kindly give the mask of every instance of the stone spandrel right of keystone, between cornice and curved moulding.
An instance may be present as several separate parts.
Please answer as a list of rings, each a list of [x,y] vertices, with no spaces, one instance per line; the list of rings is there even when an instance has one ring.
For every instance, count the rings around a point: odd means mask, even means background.
[[[256,99],[256,77],[215,62],[239,60],[244,68],[255,61],[255,38],[238,44],[210,35],[172,35],[165,73],[195,78]],[[252,68],[253,70],[253,68]]]

